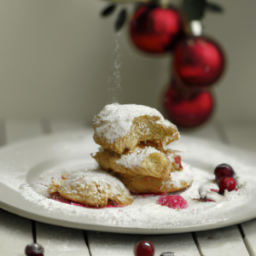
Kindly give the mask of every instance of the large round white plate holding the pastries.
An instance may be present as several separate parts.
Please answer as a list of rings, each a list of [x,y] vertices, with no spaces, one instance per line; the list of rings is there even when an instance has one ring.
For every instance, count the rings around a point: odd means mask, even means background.
[[[95,161],[91,159],[90,154],[96,152],[98,146],[93,142],[92,136],[83,131],[59,133],[55,135],[38,137],[21,143],[15,143],[0,150],[0,207],[3,209],[31,218],[47,224],[61,225],[84,230],[98,230],[131,234],[170,234],[182,233],[198,230],[210,230],[224,227],[232,224],[239,224],[256,217],[256,192],[247,193],[247,200],[242,201],[235,207],[227,208],[222,211],[222,218],[219,218],[217,212],[212,212],[200,224],[196,224],[194,219],[187,221],[187,224],[172,226],[171,228],[154,228],[148,224],[141,226],[136,221],[129,226],[123,225],[122,221],[118,224],[106,224],[94,221],[93,218],[85,218],[84,215],[65,214],[60,211],[49,210],[38,203],[26,200],[20,194],[20,185],[22,183],[32,184],[43,172],[51,172],[58,167],[69,168],[70,166],[95,166]],[[193,137],[182,137],[179,143],[174,145],[175,149],[183,150],[183,160],[191,166],[201,168],[204,172],[212,173],[215,166],[221,163],[229,163],[231,166],[251,166],[247,167],[244,173],[253,174],[256,177],[255,154],[250,154],[237,148],[226,147],[222,144],[212,143],[206,140],[200,140]],[[243,167],[238,167],[240,176],[243,174]],[[249,168],[249,169],[248,169]],[[249,170],[249,171],[248,171]],[[242,172],[241,172],[242,171]],[[197,172],[200,173],[200,172]],[[208,175],[208,174],[207,174]],[[212,176],[213,177],[213,176]],[[248,178],[247,183],[250,183]],[[188,192],[189,190],[187,190]],[[255,189],[256,191],[256,189]],[[59,202],[56,202],[59,203]],[[236,203],[236,201],[234,201]],[[61,203],[59,203],[61,204]],[[208,203],[207,203],[208,204]],[[212,203],[214,204],[214,203]],[[211,205],[206,205],[208,208]],[[75,207],[75,206],[68,206]],[[79,211],[87,211],[86,208],[79,208]],[[119,208],[105,209],[108,216],[111,211],[117,211]],[[164,209],[164,207],[163,207]],[[166,209],[169,209],[165,207]],[[169,209],[173,211],[172,209]],[[94,215],[102,215],[102,210],[90,209]],[[75,211],[74,211],[75,212]],[[110,212],[110,213],[109,213]],[[138,215],[143,214],[137,212]],[[178,216],[178,215],[177,215]],[[185,218],[185,215],[183,215]],[[130,216],[131,217],[131,216]],[[122,218],[125,219],[125,216]],[[134,219],[136,216],[133,217]],[[168,216],[166,216],[168,218]]]

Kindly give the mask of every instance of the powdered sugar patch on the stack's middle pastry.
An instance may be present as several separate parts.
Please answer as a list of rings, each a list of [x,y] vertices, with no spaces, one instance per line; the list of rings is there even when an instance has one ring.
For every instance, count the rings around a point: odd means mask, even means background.
[[[143,160],[145,160],[148,155],[153,153],[163,154],[159,150],[152,147],[139,148],[137,151],[132,152],[131,154],[122,154],[121,158],[117,160],[116,163],[118,165],[125,166],[126,168],[142,166]]]

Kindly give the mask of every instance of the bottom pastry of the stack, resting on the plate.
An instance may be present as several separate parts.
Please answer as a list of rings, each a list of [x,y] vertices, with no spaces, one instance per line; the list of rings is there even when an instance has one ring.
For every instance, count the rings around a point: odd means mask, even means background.
[[[125,184],[131,192],[140,193],[171,193],[186,189],[193,183],[193,176],[189,166],[185,165],[183,171],[171,172],[166,179],[143,175],[125,175],[114,172],[113,175]]]

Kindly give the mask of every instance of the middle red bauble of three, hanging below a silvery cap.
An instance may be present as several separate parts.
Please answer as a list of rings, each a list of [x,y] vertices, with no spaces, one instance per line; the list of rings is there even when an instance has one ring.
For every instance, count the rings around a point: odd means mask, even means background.
[[[204,88],[216,82],[224,72],[224,54],[212,39],[188,36],[177,43],[173,70],[181,84]]]

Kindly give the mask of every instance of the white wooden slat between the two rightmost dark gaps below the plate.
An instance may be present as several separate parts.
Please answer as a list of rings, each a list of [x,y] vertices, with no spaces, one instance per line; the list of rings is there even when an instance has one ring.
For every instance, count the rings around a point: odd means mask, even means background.
[[[204,256],[249,256],[237,226],[196,232]]]

